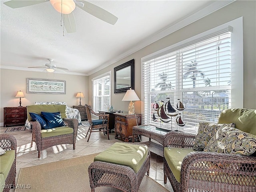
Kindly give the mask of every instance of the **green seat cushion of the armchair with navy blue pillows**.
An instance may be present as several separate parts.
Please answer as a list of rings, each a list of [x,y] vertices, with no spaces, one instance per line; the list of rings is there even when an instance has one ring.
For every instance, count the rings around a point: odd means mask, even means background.
[[[47,130],[42,129],[41,130],[41,138],[72,134],[73,132],[74,132],[74,129],[67,127],[67,126],[66,127],[56,127],[56,128],[47,129]]]

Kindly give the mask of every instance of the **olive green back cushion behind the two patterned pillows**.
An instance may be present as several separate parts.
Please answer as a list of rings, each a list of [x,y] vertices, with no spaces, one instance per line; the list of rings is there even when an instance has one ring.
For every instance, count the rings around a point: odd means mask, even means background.
[[[225,109],[218,123],[235,123],[235,128],[256,135],[256,109]]]

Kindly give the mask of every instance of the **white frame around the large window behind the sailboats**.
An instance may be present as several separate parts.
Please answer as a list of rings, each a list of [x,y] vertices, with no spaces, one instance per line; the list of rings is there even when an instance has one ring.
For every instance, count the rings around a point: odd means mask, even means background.
[[[193,43],[200,42],[202,40],[208,39],[210,36],[214,36],[214,34],[218,34],[221,31],[225,30],[225,28],[229,28],[232,26],[234,28],[232,34],[231,34],[231,108],[243,108],[243,27],[242,27],[242,17],[237,18],[235,20],[232,20],[230,22],[227,22],[225,24],[222,24],[220,26],[217,26],[215,28],[212,28],[206,32],[202,32],[201,34],[198,34],[196,36],[193,36],[191,38],[188,38],[186,40],[182,40],[181,42],[178,42],[176,44],[173,44],[171,46],[168,46],[167,48],[164,48],[162,50],[159,50],[157,52],[154,52],[148,56],[145,56],[141,58],[141,67],[142,67],[142,106],[141,111],[142,114],[145,114],[145,106],[146,102],[145,99],[145,92],[144,90],[147,89],[144,87],[144,79],[143,79],[143,62],[148,61],[150,59],[157,58],[161,55],[168,54],[170,52],[173,52],[175,50],[184,48],[186,46],[189,46]],[[177,71],[177,70],[176,70]],[[149,89],[147,89],[149,90]],[[148,91],[149,92],[149,91]],[[172,91],[169,91],[169,93]],[[184,92],[184,91],[182,91]],[[178,93],[179,94],[179,93]],[[148,96],[149,98],[149,96]],[[150,102],[150,99],[148,99],[148,102]],[[148,118],[148,117],[147,117]],[[145,121],[145,115],[142,116],[142,123],[148,124]]]

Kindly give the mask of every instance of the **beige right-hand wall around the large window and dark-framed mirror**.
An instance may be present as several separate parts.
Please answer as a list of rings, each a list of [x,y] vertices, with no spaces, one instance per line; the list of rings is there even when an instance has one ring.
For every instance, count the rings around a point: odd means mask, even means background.
[[[123,102],[124,93],[114,94],[113,69],[124,62],[135,61],[135,92],[141,98],[141,64],[142,57],[166,48],[172,44],[200,34],[216,26],[243,16],[244,34],[244,108],[256,108],[256,1],[235,1],[224,8],[201,18],[200,20],[169,34],[168,36],[134,52],[130,56],[96,72],[88,77],[88,103],[92,104],[92,78],[112,71],[112,104],[116,110],[128,111],[129,102]],[[141,101],[134,102],[135,112],[141,112]]]

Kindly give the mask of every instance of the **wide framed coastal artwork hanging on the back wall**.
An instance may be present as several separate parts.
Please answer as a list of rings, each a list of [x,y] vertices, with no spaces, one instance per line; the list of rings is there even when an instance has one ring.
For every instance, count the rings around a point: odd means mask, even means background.
[[[27,93],[66,94],[66,81],[27,78]]]

